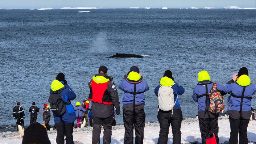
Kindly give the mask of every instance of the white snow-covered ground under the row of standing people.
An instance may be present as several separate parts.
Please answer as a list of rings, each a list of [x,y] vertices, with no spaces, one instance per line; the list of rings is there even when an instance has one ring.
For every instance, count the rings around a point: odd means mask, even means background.
[[[228,141],[230,136],[230,124],[229,120],[226,118],[219,119],[219,140],[220,143],[224,143],[224,141]],[[146,123],[144,130],[144,144],[157,144],[158,135],[159,135],[159,123]],[[256,121],[250,121],[248,128],[248,140],[255,142],[256,141]],[[193,141],[198,141],[201,143],[201,133],[199,131],[198,119],[188,118],[182,121],[181,126],[181,143],[188,143]],[[135,134],[135,133],[134,133]],[[56,144],[56,131],[48,131],[48,136],[51,141],[51,144]],[[92,142],[92,127],[86,128],[77,128],[74,129],[73,132],[74,142],[75,144],[90,144]],[[135,137],[135,135],[134,135]],[[172,129],[169,129],[169,139],[168,144],[172,143]],[[0,144],[10,144],[10,143],[21,143],[22,137],[19,136],[18,132],[1,132],[0,133]],[[103,142],[103,128],[100,135],[100,142]],[[249,144],[253,144],[253,143]],[[117,125],[112,127],[112,139],[111,144],[122,144],[124,143],[124,125]]]

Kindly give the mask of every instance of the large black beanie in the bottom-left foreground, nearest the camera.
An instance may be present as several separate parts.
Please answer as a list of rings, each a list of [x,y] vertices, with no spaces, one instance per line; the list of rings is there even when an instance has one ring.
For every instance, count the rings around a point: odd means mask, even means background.
[[[32,123],[24,130],[22,144],[50,144],[46,128],[40,123]]]

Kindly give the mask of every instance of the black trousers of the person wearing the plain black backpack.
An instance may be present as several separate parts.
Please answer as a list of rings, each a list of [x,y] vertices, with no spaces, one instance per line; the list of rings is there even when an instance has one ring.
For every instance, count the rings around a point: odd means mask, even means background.
[[[73,141],[73,123],[64,123],[59,122],[55,123],[55,127],[57,129],[57,137],[56,143],[57,144],[64,144],[64,136],[66,136],[66,144],[74,144]]]

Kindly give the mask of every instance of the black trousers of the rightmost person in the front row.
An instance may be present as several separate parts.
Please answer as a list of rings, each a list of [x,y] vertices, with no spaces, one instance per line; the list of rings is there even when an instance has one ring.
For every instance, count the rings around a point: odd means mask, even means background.
[[[229,117],[230,123],[230,139],[229,144],[238,144],[238,132],[239,132],[239,144],[248,144],[247,127],[250,119],[233,119]]]

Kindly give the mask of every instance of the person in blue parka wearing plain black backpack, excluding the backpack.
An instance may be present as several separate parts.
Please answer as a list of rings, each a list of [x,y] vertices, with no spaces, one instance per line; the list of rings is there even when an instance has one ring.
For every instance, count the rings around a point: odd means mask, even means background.
[[[61,96],[63,102],[69,103],[66,105],[66,112],[64,114],[53,114],[55,127],[57,129],[56,142],[57,144],[64,144],[64,136],[66,136],[66,144],[74,144],[73,127],[75,121],[75,110],[70,101],[74,100],[77,96],[67,84],[65,75],[63,73],[58,73],[56,79],[51,83],[51,90],[57,91],[64,86],[66,89],[63,89],[59,95]]]

